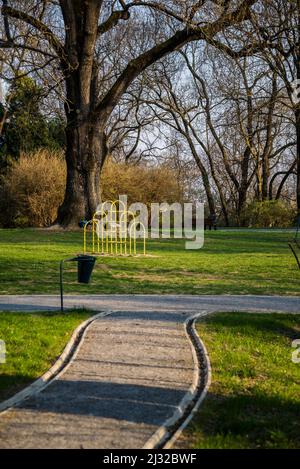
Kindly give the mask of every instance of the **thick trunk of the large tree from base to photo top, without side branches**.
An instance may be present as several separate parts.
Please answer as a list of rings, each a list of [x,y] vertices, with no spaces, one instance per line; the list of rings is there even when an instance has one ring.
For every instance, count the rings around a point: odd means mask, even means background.
[[[66,228],[90,220],[99,203],[99,177],[106,156],[104,125],[95,111],[97,67],[94,57],[101,3],[61,1],[66,25],[63,72],[67,181],[56,223]]]

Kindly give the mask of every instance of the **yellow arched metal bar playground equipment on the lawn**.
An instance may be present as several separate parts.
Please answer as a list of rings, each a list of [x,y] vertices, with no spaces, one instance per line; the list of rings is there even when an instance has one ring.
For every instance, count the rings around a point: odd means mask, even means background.
[[[122,200],[109,200],[103,202],[92,220],[84,225],[84,254],[136,256],[137,238],[142,238],[141,252],[146,255],[145,225],[137,215],[127,210]]]

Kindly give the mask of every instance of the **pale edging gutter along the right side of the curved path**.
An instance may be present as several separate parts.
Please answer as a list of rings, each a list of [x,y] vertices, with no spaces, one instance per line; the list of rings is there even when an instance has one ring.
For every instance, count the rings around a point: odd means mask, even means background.
[[[176,406],[176,410],[172,417],[170,417],[168,420],[166,420],[162,426],[158,428],[158,430],[154,433],[154,435],[151,436],[151,438],[145,443],[143,446],[143,449],[154,449],[157,448],[158,446],[161,446],[164,444],[163,448],[164,449],[170,449],[172,445],[175,443],[175,441],[178,439],[178,437],[181,435],[182,431],[184,428],[188,425],[190,420],[193,418],[194,414],[197,412],[199,409],[202,401],[204,400],[207,391],[210,387],[211,384],[211,366],[210,366],[210,360],[209,360],[209,355],[207,353],[206,347],[203,344],[202,340],[197,334],[196,328],[195,328],[195,323],[196,320],[207,316],[210,314],[210,312],[207,311],[202,311],[201,313],[198,313],[192,317],[189,317],[185,323],[184,323],[184,328],[185,328],[185,333],[186,336],[189,340],[190,347],[192,350],[192,355],[193,355],[193,361],[194,361],[194,374],[193,374],[193,383],[191,387],[189,388],[188,392],[184,396],[184,398],[181,400],[178,406]],[[192,324],[192,332],[193,332],[193,338],[196,340],[197,346],[199,350],[202,350],[203,356],[205,357],[206,363],[205,363],[205,368],[206,368],[206,377],[205,377],[205,387],[201,393],[201,396],[195,403],[193,409],[185,419],[185,421],[180,425],[179,429],[174,433],[174,435],[171,435],[171,430],[174,428],[178,420],[180,420],[185,412],[188,406],[191,404],[191,402],[195,399],[197,392],[198,392],[198,386],[200,383],[200,363],[199,363],[199,358],[198,354],[195,350],[193,341],[187,331],[187,325],[190,321],[193,321]],[[165,443],[166,442],[166,443]]]

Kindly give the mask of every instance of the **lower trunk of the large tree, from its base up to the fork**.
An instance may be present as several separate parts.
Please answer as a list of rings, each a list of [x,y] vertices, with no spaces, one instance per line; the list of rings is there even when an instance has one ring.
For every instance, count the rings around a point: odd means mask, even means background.
[[[100,202],[100,173],[107,147],[103,129],[95,124],[70,125],[66,137],[66,192],[56,223],[74,228],[80,220],[90,220]]]

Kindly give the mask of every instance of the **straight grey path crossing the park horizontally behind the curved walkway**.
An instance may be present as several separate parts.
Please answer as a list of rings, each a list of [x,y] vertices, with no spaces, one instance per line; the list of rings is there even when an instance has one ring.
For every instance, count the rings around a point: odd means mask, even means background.
[[[59,308],[58,295],[0,295],[0,311]],[[300,312],[299,296],[255,295],[66,295],[67,308],[93,311],[285,311]]]

